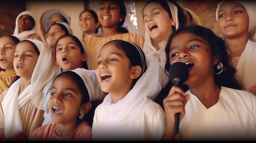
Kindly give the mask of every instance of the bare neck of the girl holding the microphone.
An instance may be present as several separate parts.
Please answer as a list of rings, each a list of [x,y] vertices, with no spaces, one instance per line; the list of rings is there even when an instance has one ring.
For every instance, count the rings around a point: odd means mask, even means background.
[[[212,78],[205,80],[200,85],[189,85],[189,90],[206,108],[209,108],[218,102],[221,88],[215,84]]]

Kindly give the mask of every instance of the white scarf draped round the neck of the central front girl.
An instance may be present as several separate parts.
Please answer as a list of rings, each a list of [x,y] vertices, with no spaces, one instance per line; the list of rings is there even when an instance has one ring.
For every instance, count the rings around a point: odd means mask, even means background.
[[[143,58],[141,57],[141,59]],[[113,104],[111,93],[106,95],[101,105],[109,118],[104,120],[109,122],[115,119],[117,123],[126,124],[130,119],[137,117],[138,112],[144,107],[148,98],[154,99],[158,95],[161,90],[158,83],[158,61],[156,57],[148,56],[146,64],[145,73],[123,99]]]

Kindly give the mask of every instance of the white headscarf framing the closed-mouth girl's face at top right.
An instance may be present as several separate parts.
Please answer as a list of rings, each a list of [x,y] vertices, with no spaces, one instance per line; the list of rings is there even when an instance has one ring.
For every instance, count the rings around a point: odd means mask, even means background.
[[[220,3],[218,3],[217,9],[216,9],[216,20],[218,21],[218,11],[220,9],[220,6],[223,2],[226,0],[222,0]],[[247,14],[249,16],[249,34],[254,33],[256,31],[256,2],[255,1],[247,1],[247,0],[232,0],[234,2],[238,2],[245,7]]]

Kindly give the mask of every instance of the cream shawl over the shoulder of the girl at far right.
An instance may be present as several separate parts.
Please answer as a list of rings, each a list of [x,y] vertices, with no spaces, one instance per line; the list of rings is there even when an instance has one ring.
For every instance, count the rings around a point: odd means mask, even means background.
[[[256,42],[248,40],[236,68],[237,75],[245,84],[245,90],[249,91],[252,86],[256,86]]]

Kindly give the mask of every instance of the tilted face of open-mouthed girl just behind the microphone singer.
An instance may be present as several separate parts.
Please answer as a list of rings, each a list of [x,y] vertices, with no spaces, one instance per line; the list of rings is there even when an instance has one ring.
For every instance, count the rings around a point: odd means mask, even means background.
[[[144,28],[157,42],[167,40],[173,32],[173,19],[158,2],[151,2],[143,10]]]

